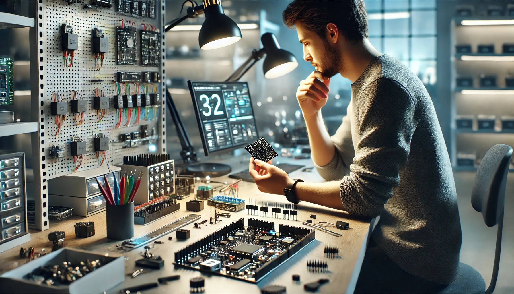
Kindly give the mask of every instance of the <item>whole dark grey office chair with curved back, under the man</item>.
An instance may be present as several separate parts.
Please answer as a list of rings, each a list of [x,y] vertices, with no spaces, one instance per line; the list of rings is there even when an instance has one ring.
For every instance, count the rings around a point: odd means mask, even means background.
[[[460,263],[457,279],[439,293],[492,293],[498,279],[500,267],[500,250],[502,247],[503,211],[505,204],[505,186],[509,172],[512,147],[505,144],[492,146],[476,170],[471,205],[481,212],[485,224],[492,227],[498,224],[494,267],[489,288],[485,290],[482,275],[467,264]]]

